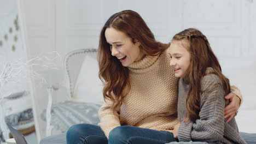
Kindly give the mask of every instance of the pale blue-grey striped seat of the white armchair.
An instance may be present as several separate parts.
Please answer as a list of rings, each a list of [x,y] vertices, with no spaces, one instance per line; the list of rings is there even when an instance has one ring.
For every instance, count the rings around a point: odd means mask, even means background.
[[[64,101],[51,107],[51,125],[62,133],[74,124],[88,123],[98,124],[98,110],[101,105],[91,103],[79,103]],[[46,110],[41,113],[41,118],[46,121]]]

